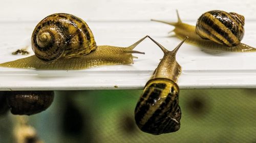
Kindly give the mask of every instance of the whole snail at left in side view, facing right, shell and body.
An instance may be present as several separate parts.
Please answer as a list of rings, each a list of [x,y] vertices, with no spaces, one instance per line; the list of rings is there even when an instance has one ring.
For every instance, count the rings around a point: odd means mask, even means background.
[[[42,19],[35,27],[31,45],[35,55],[0,64],[0,67],[26,69],[78,70],[102,65],[133,64],[133,50],[146,36],[122,48],[97,46],[89,26],[82,19],[56,13]]]

